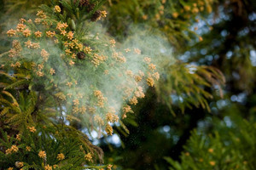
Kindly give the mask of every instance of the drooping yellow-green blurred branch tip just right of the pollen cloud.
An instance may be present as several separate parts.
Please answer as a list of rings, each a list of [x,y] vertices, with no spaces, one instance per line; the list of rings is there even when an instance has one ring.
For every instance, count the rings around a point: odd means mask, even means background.
[[[173,106],[177,106],[183,113],[185,108],[201,106],[210,112],[207,99],[212,99],[212,94],[207,88],[217,86],[219,94],[223,97],[221,86],[224,85],[224,76],[221,71],[211,66],[195,66],[183,63],[167,65],[160,84],[156,90],[164,104],[168,105],[173,115],[176,115]]]

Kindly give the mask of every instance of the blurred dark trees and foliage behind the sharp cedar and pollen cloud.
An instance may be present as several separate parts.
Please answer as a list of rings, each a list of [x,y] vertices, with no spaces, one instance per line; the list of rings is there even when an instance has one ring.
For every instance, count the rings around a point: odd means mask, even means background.
[[[0,54],[9,23],[38,0],[0,0]],[[108,0],[100,21],[125,41],[139,26],[172,46],[160,82],[112,137],[96,139],[113,169],[256,169],[256,1]]]

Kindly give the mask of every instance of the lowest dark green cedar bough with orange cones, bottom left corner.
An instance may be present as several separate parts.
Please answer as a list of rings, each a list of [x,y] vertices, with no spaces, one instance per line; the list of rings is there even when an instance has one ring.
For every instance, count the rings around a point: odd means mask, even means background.
[[[38,123],[37,123],[38,124]],[[1,132],[0,165],[2,168],[14,167],[17,161],[23,162],[22,169],[44,169],[47,165],[54,165],[55,169],[84,169],[85,153],[94,153],[102,158],[102,150],[92,146],[84,134],[65,125],[38,124],[36,132],[24,127],[23,132],[9,136]],[[8,149],[16,146],[17,150]],[[6,150],[4,153],[3,150]],[[44,151],[46,156],[39,156]],[[59,154],[65,157],[58,158]],[[95,155],[92,155],[96,157]],[[88,164],[90,165],[90,160]],[[94,160],[96,161],[96,160]],[[65,166],[64,166],[65,165]],[[100,167],[98,167],[100,168]]]

